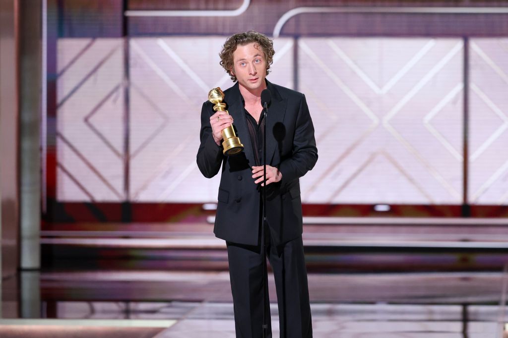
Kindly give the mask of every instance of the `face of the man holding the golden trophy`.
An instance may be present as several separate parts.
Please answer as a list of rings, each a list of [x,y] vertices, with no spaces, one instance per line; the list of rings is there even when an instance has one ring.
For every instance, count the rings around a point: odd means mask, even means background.
[[[240,86],[252,91],[265,87],[266,59],[256,43],[237,46],[233,52],[233,69]]]

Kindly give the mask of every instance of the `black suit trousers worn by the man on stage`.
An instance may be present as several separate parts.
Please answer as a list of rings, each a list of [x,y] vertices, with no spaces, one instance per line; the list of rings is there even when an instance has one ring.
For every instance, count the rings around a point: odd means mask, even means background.
[[[261,238],[265,231],[261,231]],[[266,231],[269,233],[269,231]],[[270,261],[277,290],[280,337],[311,338],[307,271],[302,238],[276,247],[266,239],[266,256]],[[261,242],[261,241],[260,241]],[[237,338],[263,336],[263,279],[266,288],[267,273],[263,276],[263,248],[227,242],[231,291],[235,312]],[[266,259],[266,258],[265,258]],[[268,289],[265,292],[268,297]],[[270,302],[267,301],[267,337],[271,337]]]

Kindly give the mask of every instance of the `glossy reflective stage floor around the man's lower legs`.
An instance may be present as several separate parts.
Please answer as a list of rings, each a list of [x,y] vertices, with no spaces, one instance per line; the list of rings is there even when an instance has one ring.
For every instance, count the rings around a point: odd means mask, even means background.
[[[309,274],[314,337],[502,337],[499,272]],[[1,337],[234,337],[227,272],[24,272]],[[270,276],[273,336],[278,317]],[[24,318],[24,319],[23,319]]]

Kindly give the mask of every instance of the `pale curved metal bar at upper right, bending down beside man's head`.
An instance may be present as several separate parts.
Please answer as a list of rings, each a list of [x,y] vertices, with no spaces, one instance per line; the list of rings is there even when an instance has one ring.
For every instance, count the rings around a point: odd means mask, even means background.
[[[508,14],[508,7],[298,7],[280,17],[273,29],[273,37],[279,37],[289,19],[305,13]]]

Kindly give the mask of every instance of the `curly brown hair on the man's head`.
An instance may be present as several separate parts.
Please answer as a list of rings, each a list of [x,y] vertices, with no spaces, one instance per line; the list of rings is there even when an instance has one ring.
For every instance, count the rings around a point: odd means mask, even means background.
[[[231,80],[233,80],[233,82],[236,82],[237,80],[236,76],[231,74],[231,69],[233,68],[233,53],[235,52],[237,46],[243,46],[250,43],[255,43],[263,49],[266,59],[266,74],[268,75],[268,73],[270,73],[270,65],[273,63],[273,54],[275,54],[273,41],[266,35],[253,30],[249,30],[245,33],[236,33],[226,40],[223,49],[219,53],[220,65],[223,66],[226,73],[231,76]]]

